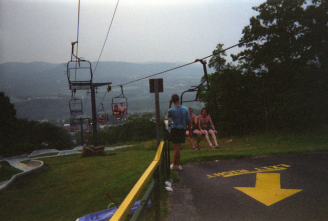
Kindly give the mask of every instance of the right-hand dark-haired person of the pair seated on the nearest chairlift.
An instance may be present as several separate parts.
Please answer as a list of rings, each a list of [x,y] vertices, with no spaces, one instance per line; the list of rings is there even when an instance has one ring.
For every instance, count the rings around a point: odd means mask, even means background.
[[[214,141],[214,147],[219,148],[216,140],[217,131],[214,128],[214,124],[212,122],[211,116],[208,114],[206,108],[201,109],[201,115],[198,116],[198,124],[201,128],[201,133],[205,135],[206,141],[208,142],[210,148],[213,148],[213,144],[210,141],[209,134],[212,135]]]

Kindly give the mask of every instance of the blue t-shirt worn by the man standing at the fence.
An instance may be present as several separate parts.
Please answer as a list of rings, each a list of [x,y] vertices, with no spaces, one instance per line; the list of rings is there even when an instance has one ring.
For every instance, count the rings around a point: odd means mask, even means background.
[[[171,128],[187,129],[190,114],[187,107],[179,105],[169,109],[168,117],[172,119]]]

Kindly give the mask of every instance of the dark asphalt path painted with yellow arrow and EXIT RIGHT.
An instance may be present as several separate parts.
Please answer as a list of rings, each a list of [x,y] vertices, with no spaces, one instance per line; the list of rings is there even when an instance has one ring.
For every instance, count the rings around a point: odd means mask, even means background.
[[[175,220],[328,220],[328,152],[182,165]]]

